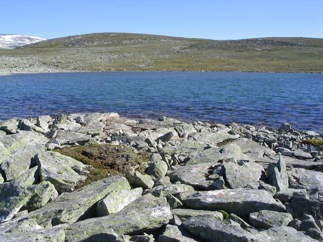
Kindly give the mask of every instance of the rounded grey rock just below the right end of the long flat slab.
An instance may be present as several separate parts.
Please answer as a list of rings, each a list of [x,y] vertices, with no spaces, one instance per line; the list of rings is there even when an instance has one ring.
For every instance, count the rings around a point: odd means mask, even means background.
[[[249,214],[250,225],[256,228],[268,229],[276,226],[287,226],[293,217],[290,213],[261,210]]]

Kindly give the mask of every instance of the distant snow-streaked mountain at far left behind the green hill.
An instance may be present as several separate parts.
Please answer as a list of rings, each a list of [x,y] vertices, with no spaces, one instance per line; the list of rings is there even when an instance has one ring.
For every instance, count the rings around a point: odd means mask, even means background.
[[[32,44],[45,39],[19,34],[0,34],[0,48],[13,49],[26,44]]]

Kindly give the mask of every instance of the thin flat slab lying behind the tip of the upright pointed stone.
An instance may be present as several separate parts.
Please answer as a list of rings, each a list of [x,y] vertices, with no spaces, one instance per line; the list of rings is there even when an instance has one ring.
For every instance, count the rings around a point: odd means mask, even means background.
[[[292,168],[305,168],[305,169],[315,169],[323,162],[313,162],[313,161],[306,161],[306,160],[300,160],[296,158],[292,158],[289,156],[282,155],[286,166],[292,167]],[[279,155],[273,155],[273,156],[266,156],[266,157],[259,157],[259,158],[253,158],[255,162],[263,165],[264,167],[267,167],[270,163],[277,163],[279,160]]]

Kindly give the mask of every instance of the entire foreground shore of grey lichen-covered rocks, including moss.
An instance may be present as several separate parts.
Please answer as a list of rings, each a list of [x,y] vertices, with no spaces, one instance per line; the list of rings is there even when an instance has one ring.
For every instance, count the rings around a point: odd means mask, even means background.
[[[75,113],[0,121],[0,241],[323,241],[323,134]]]

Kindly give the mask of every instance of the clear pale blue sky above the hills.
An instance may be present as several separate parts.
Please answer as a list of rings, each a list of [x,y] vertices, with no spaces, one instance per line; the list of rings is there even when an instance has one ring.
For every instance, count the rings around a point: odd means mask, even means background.
[[[323,38],[323,0],[1,0],[0,34]]]

